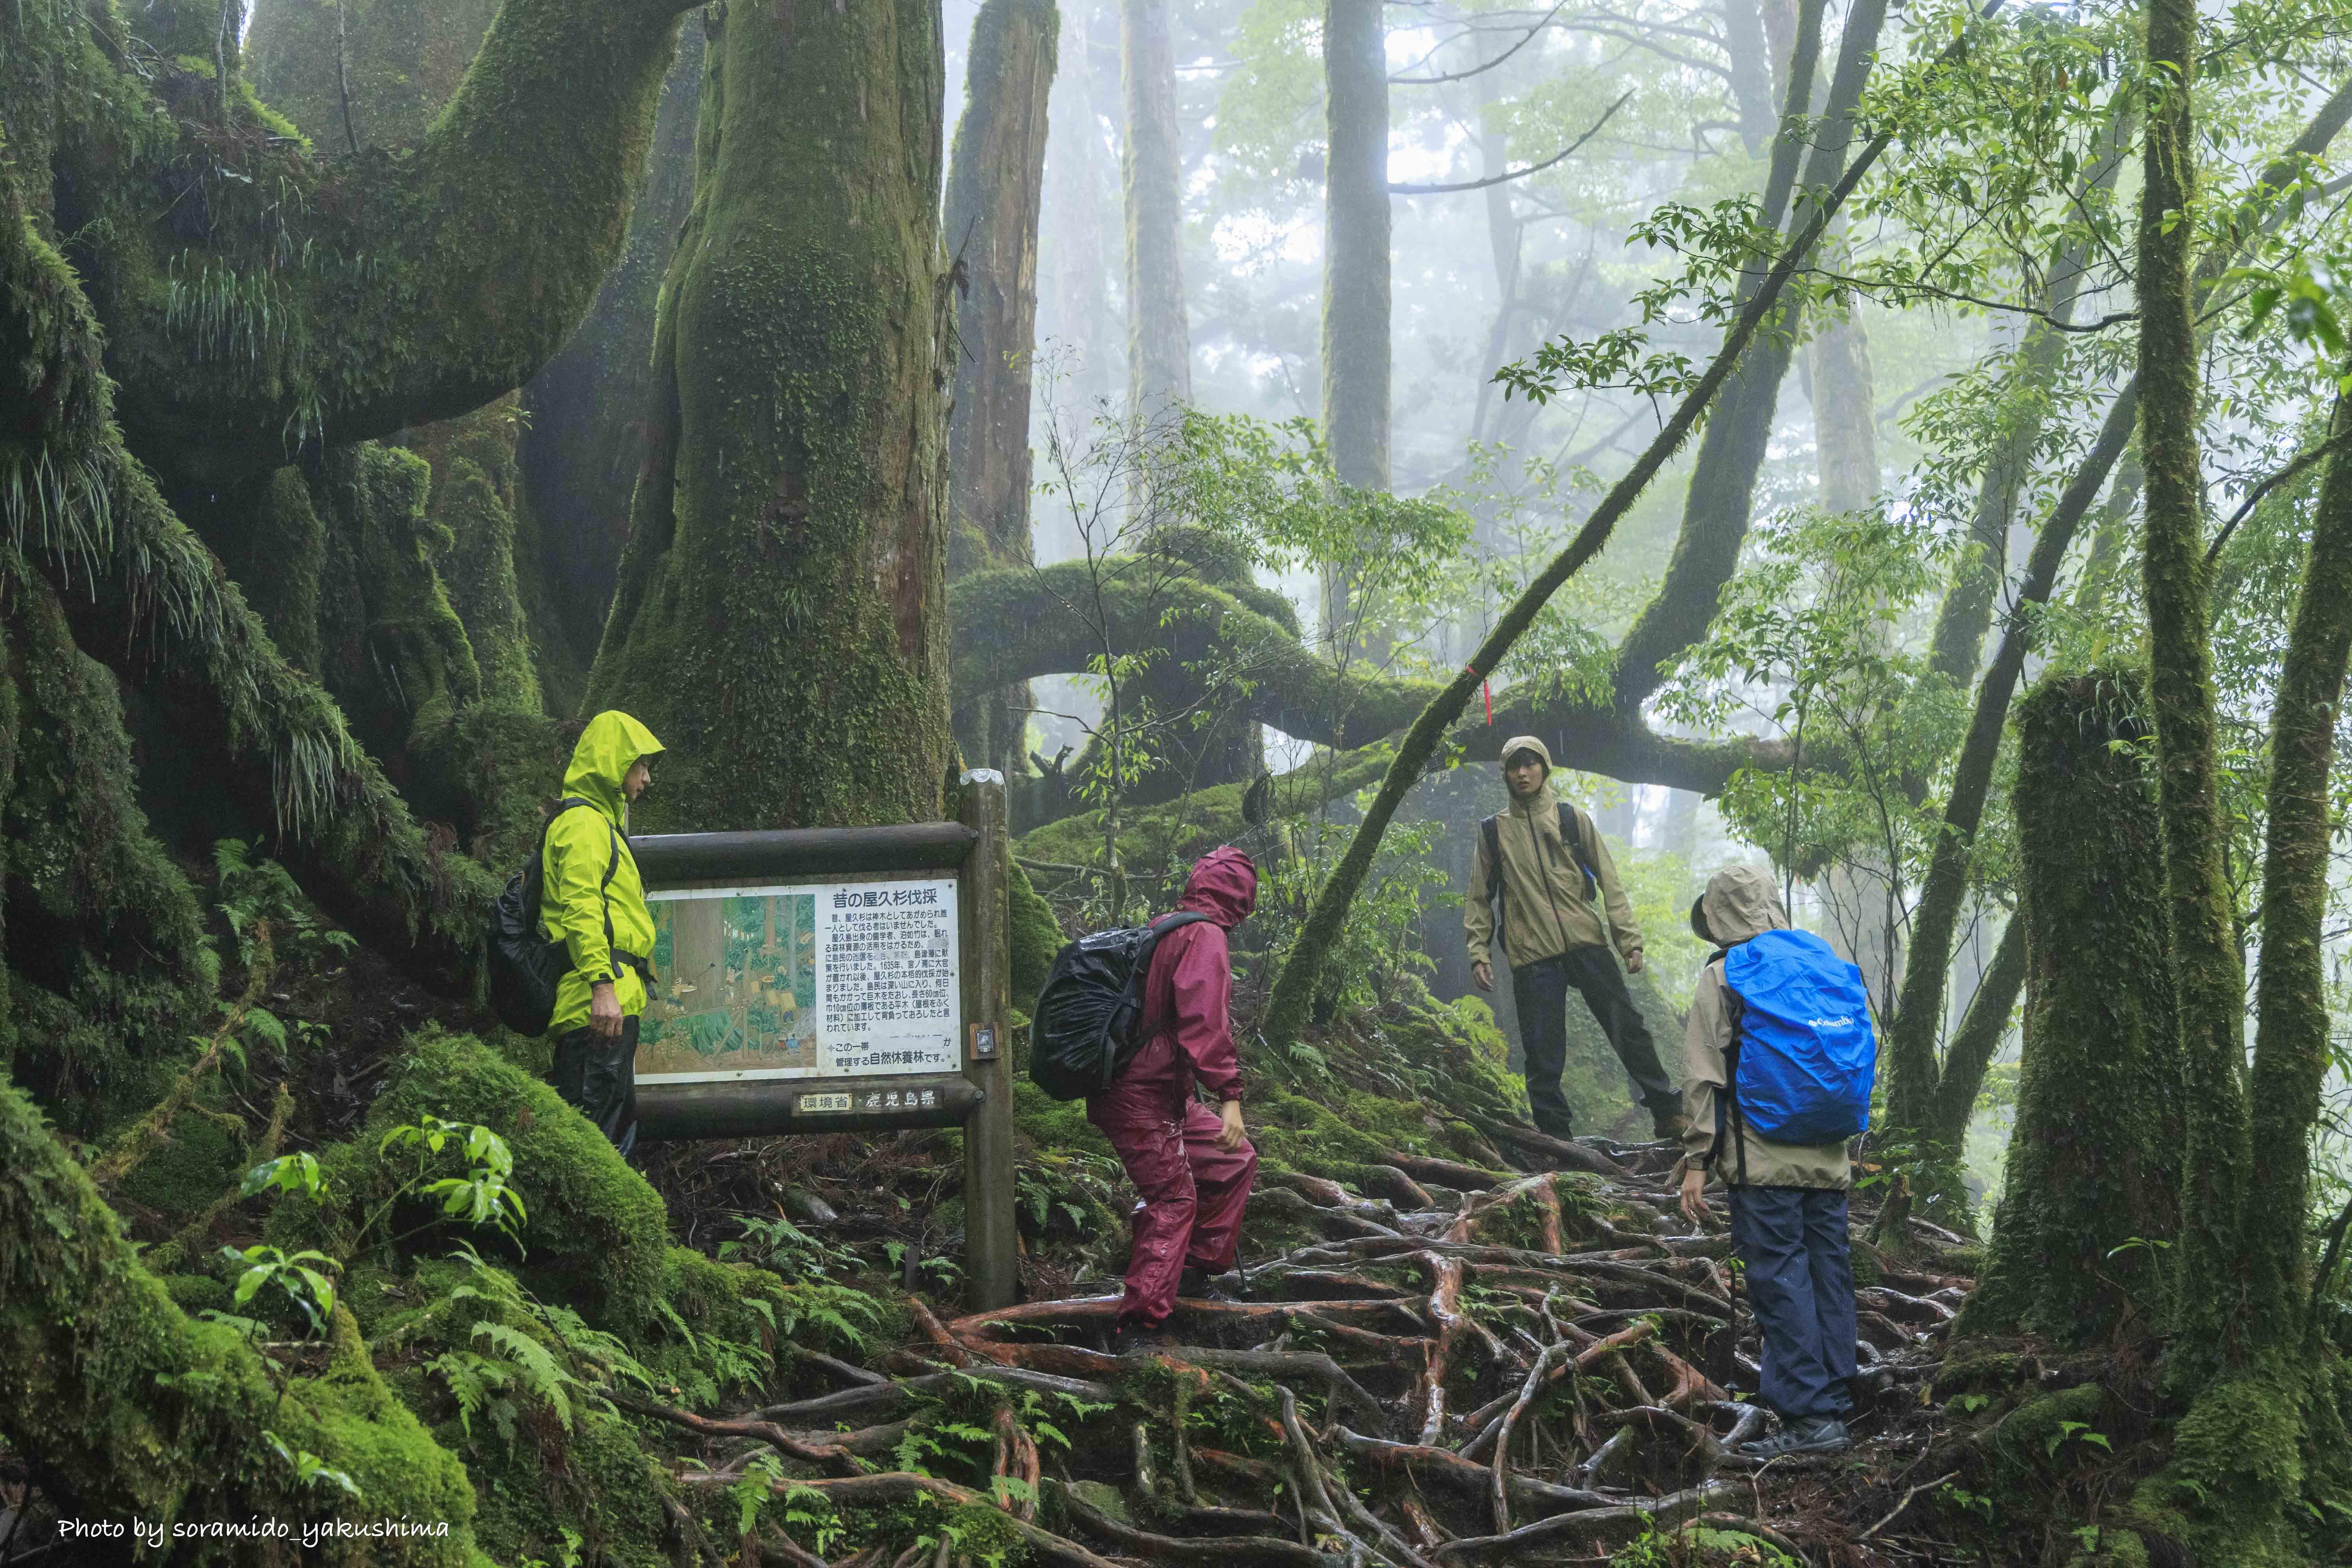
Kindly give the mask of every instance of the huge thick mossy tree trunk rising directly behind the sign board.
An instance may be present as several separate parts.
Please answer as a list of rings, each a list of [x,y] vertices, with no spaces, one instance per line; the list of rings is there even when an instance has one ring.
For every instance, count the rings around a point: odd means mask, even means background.
[[[588,701],[668,743],[649,823],[936,816],[938,9],[706,26],[694,214],[663,284],[656,428]]]

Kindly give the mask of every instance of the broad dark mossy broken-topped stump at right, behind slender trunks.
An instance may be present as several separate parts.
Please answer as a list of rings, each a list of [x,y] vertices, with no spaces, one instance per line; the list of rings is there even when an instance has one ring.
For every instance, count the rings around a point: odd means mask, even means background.
[[[2180,1032],[2138,679],[2053,677],[2018,708],[2027,999],[2018,1121],[1966,1333],[2098,1345],[2161,1326],[2180,1215]]]

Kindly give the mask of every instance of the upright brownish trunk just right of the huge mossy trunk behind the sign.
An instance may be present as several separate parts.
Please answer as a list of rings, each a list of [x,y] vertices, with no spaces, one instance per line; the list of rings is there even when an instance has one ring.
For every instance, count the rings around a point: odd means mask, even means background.
[[[948,421],[950,569],[957,574],[1033,559],[1028,416],[1037,350],[1037,214],[1058,31],[1054,0],[988,0],[971,24],[946,219],[964,289],[955,313],[960,353]],[[1018,771],[1028,710],[1025,684],[957,708],[964,757]]]

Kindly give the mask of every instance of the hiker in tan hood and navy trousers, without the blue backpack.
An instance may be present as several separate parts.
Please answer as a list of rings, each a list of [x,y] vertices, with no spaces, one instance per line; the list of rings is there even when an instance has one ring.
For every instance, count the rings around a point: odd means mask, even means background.
[[[1691,931],[1715,943],[1715,959],[1691,994],[1682,1039],[1682,1213],[1705,1220],[1712,1173],[1731,1194],[1731,1246],[1764,1338],[1764,1403],[1780,1432],[1743,1443],[1752,1458],[1846,1448],[1853,1378],[1853,1260],[1846,1190],[1853,1164],[1844,1143],[1797,1145],[1759,1138],[1745,1119],[1731,1135],[1726,1048],[1738,1032],[1738,997],[1724,954],[1764,931],[1785,931],[1788,912],[1769,875],[1726,865],[1691,905]]]

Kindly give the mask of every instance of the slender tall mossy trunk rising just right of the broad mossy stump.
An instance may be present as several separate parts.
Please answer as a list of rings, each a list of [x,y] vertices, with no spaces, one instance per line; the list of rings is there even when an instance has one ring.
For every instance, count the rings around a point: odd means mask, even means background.
[[[2223,875],[2213,738],[2213,651],[2197,456],[2197,324],[2185,221],[2197,197],[2194,0],[2147,0],[2150,106],[2140,188],[2140,461],[2147,465],[2143,574],[2150,703],[2157,726],[2164,879],[2180,983],[2187,1175],[2180,1197],[2183,1363],[2216,1368],[2244,1349],[2237,1227],[2244,1218],[2244,971]]]

